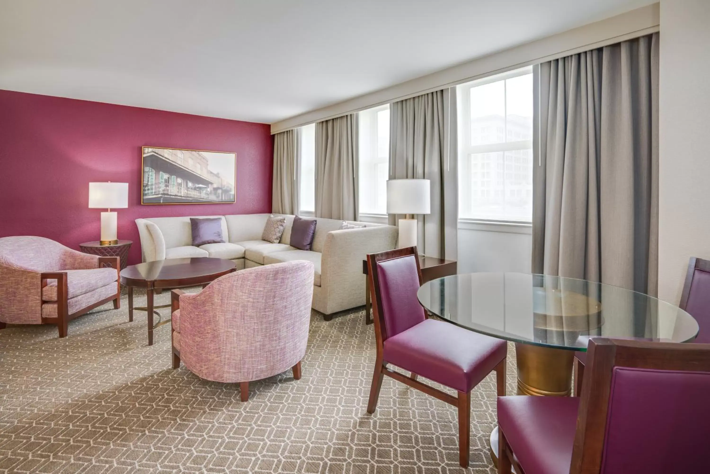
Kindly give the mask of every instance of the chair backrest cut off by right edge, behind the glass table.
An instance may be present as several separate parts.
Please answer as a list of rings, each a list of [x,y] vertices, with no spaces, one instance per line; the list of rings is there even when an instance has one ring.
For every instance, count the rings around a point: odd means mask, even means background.
[[[710,260],[690,258],[680,308],[698,322],[695,343],[710,343]]]

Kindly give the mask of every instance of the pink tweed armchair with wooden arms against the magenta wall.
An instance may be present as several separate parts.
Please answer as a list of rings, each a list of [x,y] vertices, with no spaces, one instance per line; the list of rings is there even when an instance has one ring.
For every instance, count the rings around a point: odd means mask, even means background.
[[[107,267],[108,266],[108,267]],[[44,237],[0,238],[0,329],[56,324],[114,301],[119,308],[119,257],[83,254]]]

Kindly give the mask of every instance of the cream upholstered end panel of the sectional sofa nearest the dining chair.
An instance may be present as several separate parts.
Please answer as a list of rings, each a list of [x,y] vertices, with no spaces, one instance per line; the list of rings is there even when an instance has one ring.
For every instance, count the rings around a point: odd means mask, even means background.
[[[327,313],[365,304],[362,261],[367,254],[395,248],[398,230],[391,225],[334,230],[325,238],[321,257],[321,288]]]

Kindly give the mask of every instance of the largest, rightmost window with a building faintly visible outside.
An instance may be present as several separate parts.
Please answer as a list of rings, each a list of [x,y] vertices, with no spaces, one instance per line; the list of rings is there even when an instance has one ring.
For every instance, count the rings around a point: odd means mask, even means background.
[[[457,86],[459,218],[532,220],[532,94],[532,68]]]

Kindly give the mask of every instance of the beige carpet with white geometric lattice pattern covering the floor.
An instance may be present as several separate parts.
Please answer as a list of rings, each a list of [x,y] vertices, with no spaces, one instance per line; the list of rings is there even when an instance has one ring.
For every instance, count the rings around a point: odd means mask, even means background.
[[[385,377],[366,413],[375,342],[361,309],[329,323],[314,312],[302,379],[253,382],[241,403],[239,384],[171,370],[170,325],[148,347],[146,313],[128,323],[127,307],[72,321],[65,339],[55,326],[0,331],[0,473],[495,472],[494,375],[472,394],[466,471],[454,406]],[[514,360],[511,345],[508,393]]]

